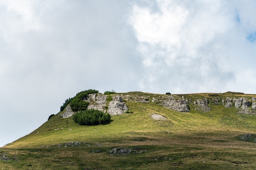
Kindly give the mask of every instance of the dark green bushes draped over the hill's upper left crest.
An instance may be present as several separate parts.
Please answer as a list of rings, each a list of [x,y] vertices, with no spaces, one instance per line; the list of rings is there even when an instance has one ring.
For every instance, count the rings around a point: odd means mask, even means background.
[[[89,94],[99,93],[98,90],[88,89],[76,94],[76,96],[72,98],[68,98],[65,100],[65,103],[61,106],[61,111],[63,111],[68,104],[73,111],[86,110],[89,102],[83,101]]]

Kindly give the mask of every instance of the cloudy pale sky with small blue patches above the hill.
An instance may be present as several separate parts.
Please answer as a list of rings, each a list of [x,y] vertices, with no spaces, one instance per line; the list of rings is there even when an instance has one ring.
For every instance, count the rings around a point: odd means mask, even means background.
[[[87,89],[256,94],[255,0],[0,0],[0,146]]]

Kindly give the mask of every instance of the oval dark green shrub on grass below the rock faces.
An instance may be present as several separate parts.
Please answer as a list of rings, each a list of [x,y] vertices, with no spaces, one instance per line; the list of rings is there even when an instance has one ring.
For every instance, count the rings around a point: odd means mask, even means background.
[[[80,125],[106,124],[110,121],[110,118],[110,114],[94,109],[79,111],[73,116],[73,120]]]

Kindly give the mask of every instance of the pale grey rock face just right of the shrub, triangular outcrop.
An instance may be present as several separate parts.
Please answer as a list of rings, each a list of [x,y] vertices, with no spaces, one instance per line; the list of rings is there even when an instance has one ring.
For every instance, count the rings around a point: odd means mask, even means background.
[[[108,113],[110,115],[121,115],[128,111],[128,107],[123,98],[119,95],[112,95],[113,101],[108,104]]]

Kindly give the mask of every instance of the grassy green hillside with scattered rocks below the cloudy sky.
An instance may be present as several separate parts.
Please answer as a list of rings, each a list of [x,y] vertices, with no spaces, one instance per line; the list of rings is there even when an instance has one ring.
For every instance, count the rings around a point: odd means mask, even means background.
[[[72,117],[62,118],[65,110],[61,111],[29,135],[0,148],[0,170],[256,169],[255,114],[238,113],[236,107],[221,102],[256,95],[177,95],[191,100],[190,112],[152,102],[164,96],[160,94],[119,95],[149,100],[126,100],[133,113],[111,116],[105,125],[81,126]],[[209,102],[209,112],[194,107],[194,100],[213,96],[220,103]],[[154,120],[152,113],[166,120]],[[1,160],[6,157],[9,160]]]

